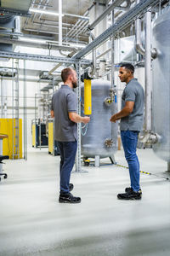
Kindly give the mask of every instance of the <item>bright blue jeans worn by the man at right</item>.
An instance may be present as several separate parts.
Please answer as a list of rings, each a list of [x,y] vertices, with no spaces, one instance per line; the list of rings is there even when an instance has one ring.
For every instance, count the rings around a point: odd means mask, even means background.
[[[138,192],[139,185],[139,160],[136,154],[139,131],[121,131],[122,146],[125,153],[125,158],[128,163],[131,188]]]

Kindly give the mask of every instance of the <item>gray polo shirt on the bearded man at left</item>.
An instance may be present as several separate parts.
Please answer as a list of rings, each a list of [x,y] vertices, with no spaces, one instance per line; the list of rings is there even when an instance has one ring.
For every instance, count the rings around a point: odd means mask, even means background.
[[[52,97],[54,110],[54,139],[59,142],[77,141],[77,123],[69,119],[69,112],[77,113],[77,95],[63,84]]]

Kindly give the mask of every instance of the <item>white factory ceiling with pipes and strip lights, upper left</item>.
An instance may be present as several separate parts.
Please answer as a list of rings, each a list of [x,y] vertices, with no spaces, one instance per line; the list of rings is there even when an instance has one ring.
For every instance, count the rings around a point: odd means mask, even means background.
[[[62,0],[61,9],[59,9],[60,0],[1,0],[0,1],[0,24],[6,16],[16,14],[20,15],[20,27],[8,27],[12,32],[4,33],[4,27],[0,27],[0,43],[4,40],[11,40],[12,44],[31,46],[31,43],[59,42],[59,11],[62,15],[62,42],[88,44],[88,35],[84,33],[89,23],[88,8],[93,4],[91,0]],[[20,34],[19,34],[20,33]],[[8,37],[7,37],[8,36]],[[29,38],[29,39],[28,39]],[[26,40],[28,39],[28,40]],[[44,42],[31,41],[31,39],[42,39]],[[15,40],[15,42],[14,42]],[[19,41],[19,42],[16,42]],[[23,43],[23,41],[25,43]],[[22,42],[22,43],[21,43]],[[7,43],[7,42],[6,42]],[[9,43],[9,42],[8,42]],[[43,47],[42,47],[43,48]]]

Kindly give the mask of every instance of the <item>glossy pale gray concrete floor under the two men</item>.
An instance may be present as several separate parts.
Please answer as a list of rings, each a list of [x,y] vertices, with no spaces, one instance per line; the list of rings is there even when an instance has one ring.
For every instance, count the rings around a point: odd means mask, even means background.
[[[139,149],[141,170],[167,176],[167,163]],[[122,151],[118,164],[127,165]],[[109,163],[109,159],[102,163]],[[141,201],[118,201],[128,170],[105,165],[73,173],[77,205],[59,204],[59,156],[31,149],[28,160],[8,160],[0,183],[0,255],[170,255],[170,182],[141,174]]]

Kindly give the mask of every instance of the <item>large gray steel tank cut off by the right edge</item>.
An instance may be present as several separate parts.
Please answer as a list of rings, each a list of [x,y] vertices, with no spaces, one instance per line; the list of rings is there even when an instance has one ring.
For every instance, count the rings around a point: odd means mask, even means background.
[[[170,9],[159,16],[153,27],[153,131],[161,136],[153,150],[162,160],[170,161]]]

